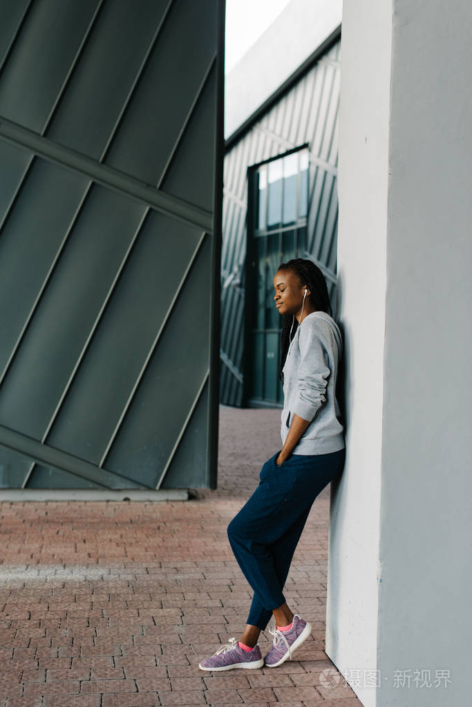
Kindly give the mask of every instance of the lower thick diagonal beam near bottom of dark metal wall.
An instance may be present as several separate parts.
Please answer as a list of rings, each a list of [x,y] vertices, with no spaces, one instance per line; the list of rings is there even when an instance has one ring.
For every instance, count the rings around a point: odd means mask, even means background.
[[[74,457],[69,452],[64,452],[48,445],[43,445],[32,437],[0,425],[0,446],[17,452],[25,457],[34,459],[37,464],[58,469],[74,474],[81,479],[93,481],[105,489],[150,489],[151,486],[139,484],[138,481],[127,479],[122,474],[109,472],[107,469],[98,468],[80,457]],[[117,486],[117,484],[120,484]]]

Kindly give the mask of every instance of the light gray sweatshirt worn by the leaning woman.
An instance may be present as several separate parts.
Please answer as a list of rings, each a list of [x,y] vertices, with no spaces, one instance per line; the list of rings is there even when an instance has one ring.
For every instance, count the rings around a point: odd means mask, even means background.
[[[338,362],[342,355],[341,332],[329,314],[311,312],[302,318],[283,366],[282,443],[294,413],[311,422],[293,454],[326,454],[345,446],[336,400]]]

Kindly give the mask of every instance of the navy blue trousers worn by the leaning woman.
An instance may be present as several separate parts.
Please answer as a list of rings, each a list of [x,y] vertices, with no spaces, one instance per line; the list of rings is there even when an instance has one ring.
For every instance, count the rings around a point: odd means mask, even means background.
[[[259,486],[228,525],[228,539],[254,590],[247,624],[264,631],[272,609],[285,603],[283,586],[314,499],[344,467],[346,449],[293,454],[277,466],[281,450],[263,465]]]

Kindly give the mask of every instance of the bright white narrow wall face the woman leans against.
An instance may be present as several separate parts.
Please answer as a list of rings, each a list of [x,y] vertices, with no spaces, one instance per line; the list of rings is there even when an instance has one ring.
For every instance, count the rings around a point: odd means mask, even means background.
[[[377,669],[390,62],[391,1],[345,0],[338,321],[345,344],[346,465],[339,488],[331,489],[326,653],[343,674],[359,670],[362,682],[365,671]],[[355,692],[374,705],[372,687]]]

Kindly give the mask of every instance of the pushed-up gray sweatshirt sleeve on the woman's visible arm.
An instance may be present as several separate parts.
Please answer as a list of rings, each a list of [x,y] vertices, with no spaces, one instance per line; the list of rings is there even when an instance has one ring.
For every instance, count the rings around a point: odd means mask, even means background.
[[[299,345],[301,358],[297,370],[297,395],[291,409],[303,419],[312,421],[326,401],[331,370],[326,365],[327,354],[316,326],[305,325],[300,329]]]

